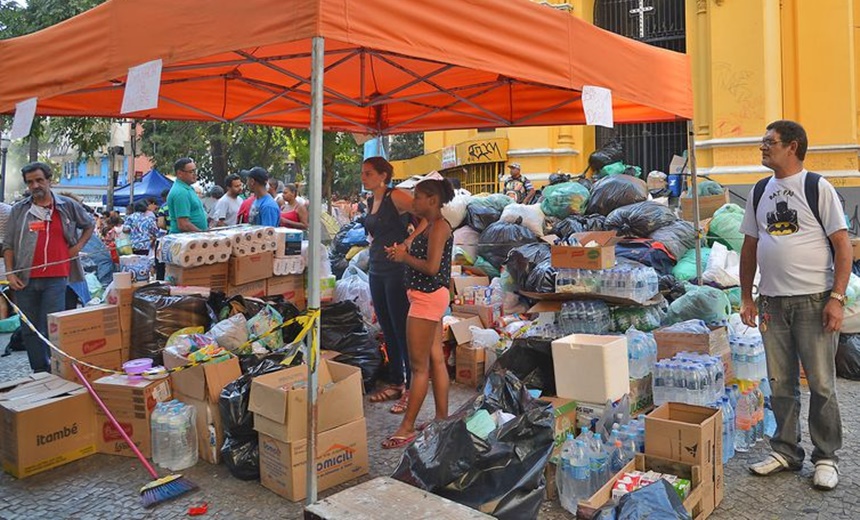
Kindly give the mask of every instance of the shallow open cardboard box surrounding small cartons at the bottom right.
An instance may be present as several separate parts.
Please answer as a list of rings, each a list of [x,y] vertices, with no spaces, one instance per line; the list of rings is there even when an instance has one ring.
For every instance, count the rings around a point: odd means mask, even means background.
[[[685,464],[651,455],[637,454],[624,468],[613,475],[609,481],[594,492],[588,500],[580,500],[577,508],[577,518],[593,518],[597,511],[612,499],[612,488],[615,482],[625,473],[631,471],[656,471],[667,473],[690,481],[690,494],[684,500],[684,509],[692,518],[703,520],[707,517],[702,508],[705,485],[702,480],[701,468],[693,464]]]

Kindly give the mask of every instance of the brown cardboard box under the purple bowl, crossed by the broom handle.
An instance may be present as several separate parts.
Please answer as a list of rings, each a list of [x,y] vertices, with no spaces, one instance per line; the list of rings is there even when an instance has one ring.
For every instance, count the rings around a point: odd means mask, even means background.
[[[93,389],[143,456],[152,456],[150,419],[156,404],[173,397],[170,380],[150,381],[116,374],[97,379]],[[135,456],[101,409],[96,410],[95,418],[96,450],[99,453]]]

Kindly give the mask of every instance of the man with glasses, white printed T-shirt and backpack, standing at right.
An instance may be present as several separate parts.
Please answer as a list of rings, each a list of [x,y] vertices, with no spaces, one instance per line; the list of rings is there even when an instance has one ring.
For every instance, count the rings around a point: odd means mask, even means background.
[[[839,483],[836,451],[842,422],[836,400],[834,357],[842,326],[851,246],[833,186],[803,167],[808,140],[794,121],[767,126],[760,150],[773,176],[762,179],[747,200],[741,232],[741,318],[764,340],[776,417],[773,449],[750,466],[756,475],[800,470],[800,363],[811,393],[809,433],[815,449],[813,485]],[[758,266],[759,298],[752,289]]]

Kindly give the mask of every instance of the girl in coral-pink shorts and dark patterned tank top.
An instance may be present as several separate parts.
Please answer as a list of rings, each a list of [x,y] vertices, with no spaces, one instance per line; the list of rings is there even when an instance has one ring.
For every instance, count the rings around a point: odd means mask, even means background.
[[[409,405],[400,427],[382,442],[382,447],[400,448],[417,435],[415,420],[433,374],[436,419],[448,417],[448,368],[442,354],[442,316],[448,309],[451,279],[451,252],[454,237],[442,217],[442,206],[454,198],[447,180],[428,179],[415,186],[412,213],[427,221],[427,228],[412,240],[407,251],[403,244],[386,248],[388,258],[406,264],[404,284],[409,298],[406,319],[406,344],[412,369]]]

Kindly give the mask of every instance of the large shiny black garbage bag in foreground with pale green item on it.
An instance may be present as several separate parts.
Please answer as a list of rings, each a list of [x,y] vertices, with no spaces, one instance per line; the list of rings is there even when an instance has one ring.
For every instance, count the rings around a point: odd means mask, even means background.
[[[516,417],[483,440],[466,429],[481,409]],[[551,405],[533,399],[513,373],[494,370],[482,395],[418,434],[392,477],[503,520],[537,518],[553,422]]]

